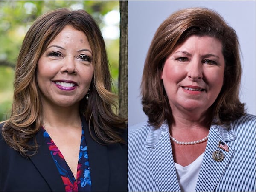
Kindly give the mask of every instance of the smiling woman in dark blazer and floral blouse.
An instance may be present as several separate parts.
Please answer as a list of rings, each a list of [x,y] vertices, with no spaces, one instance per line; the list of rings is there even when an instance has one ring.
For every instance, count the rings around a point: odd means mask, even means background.
[[[0,190],[127,191],[126,119],[113,111],[105,42],[90,14],[38,17],[14,88],[0,124]]]

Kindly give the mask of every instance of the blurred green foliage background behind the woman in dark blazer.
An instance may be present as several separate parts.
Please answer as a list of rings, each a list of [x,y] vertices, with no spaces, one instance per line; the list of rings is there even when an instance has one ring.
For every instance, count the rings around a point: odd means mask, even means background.
[[[107,47],[113,90],[118,92],[119,1],[0,1],[0,121],[11,110],[15,63],[26,31],[38,16],[57,8],[84,9],[97,21]]]

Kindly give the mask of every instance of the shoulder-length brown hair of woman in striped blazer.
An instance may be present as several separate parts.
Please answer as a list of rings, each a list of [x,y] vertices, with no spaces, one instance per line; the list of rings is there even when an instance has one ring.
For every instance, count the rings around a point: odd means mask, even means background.
[[[211,106],[210,119],[216,117],[218,124],[228,124],[245,113],[239,100],[242,70],[236,31],[213,10],[186,8],[176,11],[159,26],[145,59],[141,82],[143,111],[155,127],[160,127],[165,119],[172,124],[172,109],[160,78],[165,59],[192,35],[215,37],[222,43],[224,82]]]

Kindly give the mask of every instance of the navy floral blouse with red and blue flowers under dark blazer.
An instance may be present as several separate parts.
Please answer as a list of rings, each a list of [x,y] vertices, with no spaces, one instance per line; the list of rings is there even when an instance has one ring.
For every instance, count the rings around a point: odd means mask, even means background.
[[[64,183],[65,191],[91,191],[92,182],[90,178],[90,166],[88,161],[84,130],[82,129],[76,179],[68,167],[67,162],[65,161],[60,150],[58,150],[58,147],[54,144],[52,138],[50,138],[46,130],[44,130],[44,138],[51,152],[52,159],[55,162],[55,165]]]

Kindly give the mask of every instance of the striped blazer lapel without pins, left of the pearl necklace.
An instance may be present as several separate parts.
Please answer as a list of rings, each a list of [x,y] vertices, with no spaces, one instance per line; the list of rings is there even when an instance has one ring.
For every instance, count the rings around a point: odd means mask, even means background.
[[[145,155],[154,178],[161,191],[180,191],[172,156],[168,124],[148,133],[145,147],[151,150]]]

